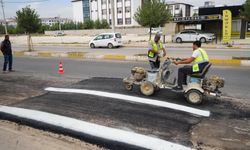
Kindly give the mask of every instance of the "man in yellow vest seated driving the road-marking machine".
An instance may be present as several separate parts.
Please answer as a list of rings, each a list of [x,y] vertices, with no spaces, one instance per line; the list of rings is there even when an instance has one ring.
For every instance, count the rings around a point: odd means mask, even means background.
[[[193,43],[193,55],[190,58],[182,59],[181,61],[174,61],[173,63],[176,65],[192,63],[192,66],[186,65],[179,68],[178,85],[174,87],[173,90],[182,91],[182,85],[186,84],[187,75],[202,72],[205,66],[209,63],[209,58],[207,52],[201,48],[201,42],[196,41]]]

